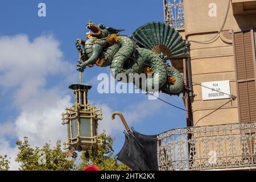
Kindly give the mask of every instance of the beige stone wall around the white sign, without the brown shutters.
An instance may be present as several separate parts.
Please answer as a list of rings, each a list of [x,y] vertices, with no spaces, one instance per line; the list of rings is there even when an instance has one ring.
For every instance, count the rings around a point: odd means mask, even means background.
[[[228,18],[220,36],[209,43],[196,43],[212,39],[224,22],[229,0],[184,0],[185,37],[191,42],[192,81],[230,80],[230,92],[237,96],[233,57],[232,30],[256,27],[256,14],[233,15],[230,3]],[[215,3],[217,16],[209,16],[209,4]],[[193,42],[196,41],[196,42]],[[201,86],[193,84],[195,99],[192,103],[194,126],[236,123],[237,100],[221,109],[229,99],[203,101]],[[214,113],[211,113],[214,111]],[[208,115],[209,114],[209,115]]]

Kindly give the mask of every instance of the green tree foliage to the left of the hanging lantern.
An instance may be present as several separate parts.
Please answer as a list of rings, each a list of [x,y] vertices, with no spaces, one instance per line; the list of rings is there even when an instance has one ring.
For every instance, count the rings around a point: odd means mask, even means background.
[[[28,138],[24,141],[17,140],[19,153],[15,161],[20,163],[20,170],[24,171],[67,171],[75,169],[75,160],[69,160],[65,151],[61,150],[61,142],[56,142],[56,147],[51,149],[46,143],[42,148],[32,148]]]

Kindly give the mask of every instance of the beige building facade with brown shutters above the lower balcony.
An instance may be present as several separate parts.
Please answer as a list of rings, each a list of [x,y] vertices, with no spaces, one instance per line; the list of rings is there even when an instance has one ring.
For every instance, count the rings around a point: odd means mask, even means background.
[[[237,97],[226,105],[230,98],[203,100],[201,86],[193,85],[193,126],[256,121],[255,13],[256,1],[184,0],[192,81],[229,80]]]

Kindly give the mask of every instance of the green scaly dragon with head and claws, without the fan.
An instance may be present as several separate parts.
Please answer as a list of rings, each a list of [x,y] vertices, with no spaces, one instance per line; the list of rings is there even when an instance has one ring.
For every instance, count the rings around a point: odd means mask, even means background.
[[[118,81],[132,81],[143,90],[161,90],[170,95],[178,95],[184,91],[183,76],[177,69],[165,63],[163,55],[137,46],[128,36],[117,35],[122,30],[106,28],[104,24],[96,25],[91,21],[86,27],[92,31],[86,34],[86,41],[76,41],[77,49],[82,52],[80,63],[77,64],[78,70],[84,71],[86,66],[92,67],[94,64],[101,67],[110,66],[112,76]],[[83,51],[81,45],[84,47]],[[152,76],[146,76],[144,82],[130,79],[135,78],[136,73],[151,73]],[[120,74],[126,79],[122,80],[118,76]],[[154,85],[157,85],[157,88]]]

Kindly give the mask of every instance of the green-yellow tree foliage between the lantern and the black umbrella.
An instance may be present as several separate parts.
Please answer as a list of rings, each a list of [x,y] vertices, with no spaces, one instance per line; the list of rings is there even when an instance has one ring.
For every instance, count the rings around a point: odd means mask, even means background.
[[[77,166],[77,170],[82,170],[84,167],[94,165],[99,167],[102,171],[129,171],[131,170],[123,163],[118,163],[115,156],[113,157],[113,142],[114,139],[105,132],[100,135],[102,144],[93,147],[92,150],[88,151],[88,155],[83,154],[80,156],[82,162]]]

